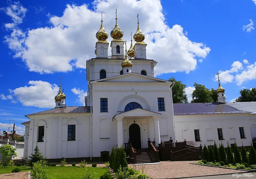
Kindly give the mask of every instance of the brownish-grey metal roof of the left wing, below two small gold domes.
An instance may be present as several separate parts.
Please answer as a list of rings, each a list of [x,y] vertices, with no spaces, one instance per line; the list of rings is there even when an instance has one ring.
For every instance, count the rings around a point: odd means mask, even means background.
[[[30,115],[54,114],[54,113],[90,113],[90,106],[66,106],[62,108],[54,108],[46,111],[41,111],[38,113],[28,114],[26,115],[26,117]]]

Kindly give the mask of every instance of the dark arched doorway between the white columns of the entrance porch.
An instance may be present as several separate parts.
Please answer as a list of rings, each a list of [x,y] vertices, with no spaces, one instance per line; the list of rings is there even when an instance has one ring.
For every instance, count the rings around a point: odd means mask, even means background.
[[[133,148],[141,148],[141,128],[138,124],[132,124],[129,127],[129,139]]]

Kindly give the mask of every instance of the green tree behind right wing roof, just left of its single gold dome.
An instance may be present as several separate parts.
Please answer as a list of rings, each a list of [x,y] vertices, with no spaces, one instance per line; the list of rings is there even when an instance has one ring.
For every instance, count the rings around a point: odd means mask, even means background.
[[[191,103],[213,103],[212,92],[205,85],[194,83]]]

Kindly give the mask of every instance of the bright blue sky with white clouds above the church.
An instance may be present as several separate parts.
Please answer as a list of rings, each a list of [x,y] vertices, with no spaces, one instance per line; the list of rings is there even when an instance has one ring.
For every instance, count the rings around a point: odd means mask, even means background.
[[[66,104],[82,105],[100,13],[110,34],[116,8],[127,41],[140,14],[157,77],[181,80],[189,97],[194,82],[216,89],[218,71],[227,101],[256,84],[255,0],[0,2],[0,131],[13,119],[22,132],[24,115],[53,107],[60,76]]]

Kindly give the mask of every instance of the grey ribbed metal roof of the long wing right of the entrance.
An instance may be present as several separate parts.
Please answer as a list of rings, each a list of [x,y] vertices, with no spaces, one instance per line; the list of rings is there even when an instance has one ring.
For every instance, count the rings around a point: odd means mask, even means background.
[[[237,109],[230,103],[174,103],[174,115],[196,115],[196,114],[235,114],[251,113],[249,109],[255,107],[256,102],[242,102]],[[240,102],[236,102],[240,103]]]

